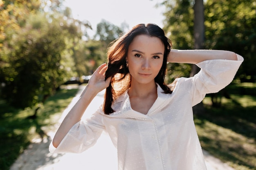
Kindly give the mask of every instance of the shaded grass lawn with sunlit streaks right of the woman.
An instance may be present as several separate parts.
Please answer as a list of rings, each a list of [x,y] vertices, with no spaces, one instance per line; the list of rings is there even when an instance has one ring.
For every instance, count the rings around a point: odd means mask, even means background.
[[[236,170],[256,170],[256,84],[231,84],[231,99],[218,108],[203,101],[205,113],[195,116],[202,148]]]

